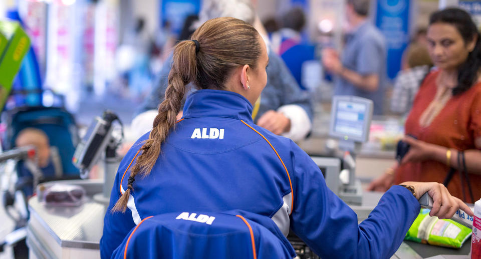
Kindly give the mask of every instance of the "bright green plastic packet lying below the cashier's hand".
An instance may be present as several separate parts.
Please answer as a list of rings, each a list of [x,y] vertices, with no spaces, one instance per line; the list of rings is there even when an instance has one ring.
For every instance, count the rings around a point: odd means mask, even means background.
[[[459,248],[471,236],[472,230],[450,219],[429,216],[429,209],[421,209],[404,237],[418,243]]]

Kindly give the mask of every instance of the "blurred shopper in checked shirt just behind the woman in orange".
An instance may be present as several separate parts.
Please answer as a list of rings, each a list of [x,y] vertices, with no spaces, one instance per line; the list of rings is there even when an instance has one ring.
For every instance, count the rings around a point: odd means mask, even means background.
[[[391,100],[391,111],[394,113],[407,115],[411,110],[419,85],[433,66],[427,51],[425,33],[425,29],[419,29],[404,52],[401,65],[403,70],[399,71],[394,79]]]

